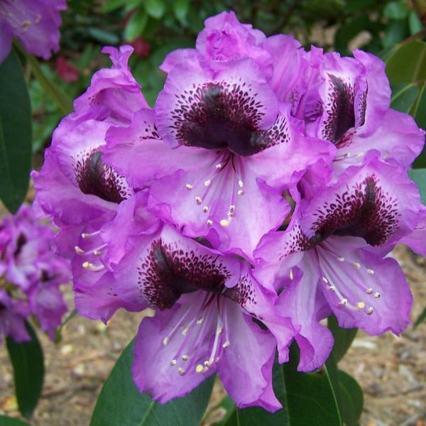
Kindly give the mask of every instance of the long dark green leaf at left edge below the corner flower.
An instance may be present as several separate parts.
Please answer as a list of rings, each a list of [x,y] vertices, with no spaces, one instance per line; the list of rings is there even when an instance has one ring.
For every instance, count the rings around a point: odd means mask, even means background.
[[[0,64],[0,199],[13,213],[26,196],[30,171],[30,98],[12,51]]]

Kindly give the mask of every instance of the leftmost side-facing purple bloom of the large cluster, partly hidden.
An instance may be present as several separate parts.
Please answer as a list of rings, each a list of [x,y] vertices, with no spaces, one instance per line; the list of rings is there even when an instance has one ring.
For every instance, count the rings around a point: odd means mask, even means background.
[[[104,48],[112,67],[95,73],[87,92],[75,100],[75,111],[55,130],[42,170],[32,175],[40,216],[48,215],[60,227],[55,245],[72,260],[77,308],[81,304],[80,312],[104,321],[118,307],[132,310],[111,288],[114,280],[102,263],[105,245],[99,236],[118,205],[133,194],[102,154],[109,127],[126,126],[136,110],[148,107],[127,65],[132,51]],[[97,309],[99,295],[109,295],[109,304]]]

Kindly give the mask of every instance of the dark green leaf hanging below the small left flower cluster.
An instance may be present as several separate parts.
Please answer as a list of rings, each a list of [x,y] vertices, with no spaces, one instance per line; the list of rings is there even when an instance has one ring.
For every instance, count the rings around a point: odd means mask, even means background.
[[[16,400],[23,417],[30,419],[43,387],[43,351],[33,327],[26,322],[29,342],[16,343],[8,337],[6,346],[13,366]]]

